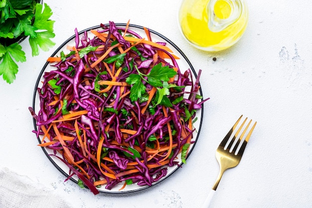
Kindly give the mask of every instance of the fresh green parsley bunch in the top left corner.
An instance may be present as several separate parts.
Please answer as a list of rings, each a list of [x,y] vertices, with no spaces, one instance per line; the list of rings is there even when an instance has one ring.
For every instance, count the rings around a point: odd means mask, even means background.
[[[29,36],[32,56],[39,54],[39,48],[48,51],[55,45],[52,13],[39,0],[0,0],[0,75],[7,83],[16,78],[16,62],[26,61],[18,40]]]

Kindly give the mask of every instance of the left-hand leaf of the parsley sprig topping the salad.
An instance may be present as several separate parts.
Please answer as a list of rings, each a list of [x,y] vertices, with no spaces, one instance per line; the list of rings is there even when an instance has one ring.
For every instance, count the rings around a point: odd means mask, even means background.
[[[126,82],[133,85],[130,90],[130,99],[135,102],[142,97],[145,93],[146,86],[142,83],[141,76],[139,74],[130,74],[127,77]]]

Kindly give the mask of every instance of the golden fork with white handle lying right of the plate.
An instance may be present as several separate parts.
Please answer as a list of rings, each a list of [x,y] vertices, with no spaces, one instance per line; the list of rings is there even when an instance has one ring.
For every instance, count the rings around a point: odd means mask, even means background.
[[[248,142],[248,140],[249,140],[256,124],[257,124],[257,122],[255,122],[255,124],[251,127],[250,131],[248,132],[246,138],[243,140],[243,137],[244,137],[246,131],[248,130],[248,128],[252,122],[252,120],[250,120],[249,123],[247,124],[247,126],[245,127],[245,129],[243,130],[243,132],[241,133],[239,139],[236,139],[236,138],[238,138],[240,131],[242,130],[242,128],[244,127],[244,125],[247,121],[247,118],[246,118],[243,121],[243,123],[240,125],[240,127],[238,128],[237,132],[235,133],[235,135],[233,136],[231,141],[229,141],[232,133],[234,132],[236,126],[238,125],[238,123],[240,122],[242,117],[243,117],[243,115],[241,115],[239,117],[239,119],[236,121],[236,123],[233,125],[233,127],[230,129],[230,131],[227,133],[227,135],[224,137],[224,139],[220,143],[219,147],[217,148],[216,159],[217,159],[219,166],[220,166],[220,172],[219,172],[218,178],[217,178],[215,184],[213,185],[212,189],[210,190],[210,193],[209,193],[207,199],[205,200],[202,208],[208,208],[208,206],[211,202],[211,199],[217,190],[217,187],[219,185],[219,182],[221,180],[223,173],[229,168],[236,167],[239,164],[239,162],[241,161],[241,158],[243,156],[247,142]]]

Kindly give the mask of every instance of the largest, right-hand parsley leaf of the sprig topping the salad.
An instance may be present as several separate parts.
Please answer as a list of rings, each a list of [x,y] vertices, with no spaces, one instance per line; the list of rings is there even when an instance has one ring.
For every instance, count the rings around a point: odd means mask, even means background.
[[[174,69],[169,68],[168,66],[161,66],[161,63],[155,65],[150,73],[147,75],[149,83],[154,87],[163,86],[161,81],[169,81],[171,77],[174,77],[176,72]]]

